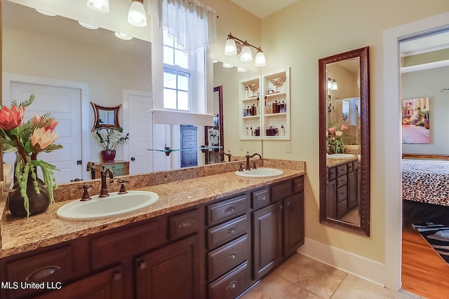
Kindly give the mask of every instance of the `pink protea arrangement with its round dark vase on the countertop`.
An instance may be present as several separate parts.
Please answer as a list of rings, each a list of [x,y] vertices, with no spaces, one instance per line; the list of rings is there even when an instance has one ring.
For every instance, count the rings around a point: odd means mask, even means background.
[[[37,159],[41,152],[49,153],[62,148],[54,144],[58,139],[55,127],[58,122],[50,113],[34,116],[24,122],[25,107],[32,104],[34,95],[25,102],[13,101],[11,109],[1,106],[0,140],[3,150],[17,153],[15,177],[17,188],[8,197],[8,207],[13,216],[29,216],[42,213],[54,202],[53,190],[56,185],[54,165]],[[37,167],[41,168],[43,181],[37,176]]]

